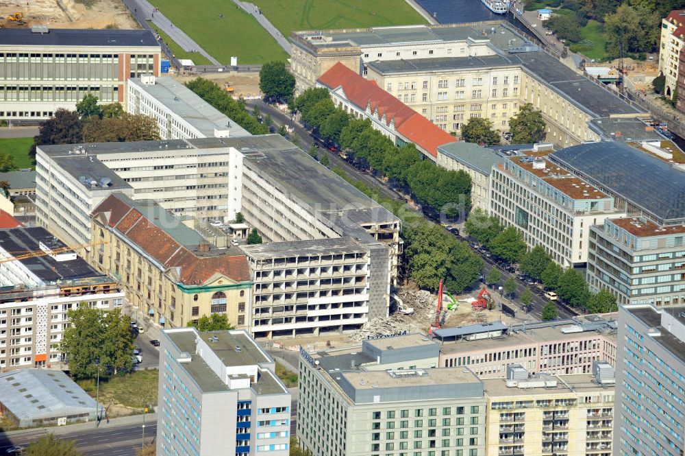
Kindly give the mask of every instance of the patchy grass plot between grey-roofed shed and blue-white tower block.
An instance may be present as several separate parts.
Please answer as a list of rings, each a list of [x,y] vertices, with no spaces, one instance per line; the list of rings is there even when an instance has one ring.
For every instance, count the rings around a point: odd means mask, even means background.
[[[136,370],[131,374],[113,376],[100,382],[100,400],[111,399],[125,407],[144,409],[146,405],[157,405],[159,370]],[[88,391],[95,397],[95,391]]]

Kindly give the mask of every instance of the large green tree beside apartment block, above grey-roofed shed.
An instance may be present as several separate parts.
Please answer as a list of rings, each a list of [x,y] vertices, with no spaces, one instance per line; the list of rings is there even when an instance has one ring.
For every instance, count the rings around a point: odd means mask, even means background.
[[[64,331],[60,350],[69,361],[69,371],[75,379],[95,379],[130,370],[132,366],[133,336],[131,317],[121,315],[119,309],[103,311],[79,304],[67,313],[71,325]],[[99,366],[95,360],[99,360]]]

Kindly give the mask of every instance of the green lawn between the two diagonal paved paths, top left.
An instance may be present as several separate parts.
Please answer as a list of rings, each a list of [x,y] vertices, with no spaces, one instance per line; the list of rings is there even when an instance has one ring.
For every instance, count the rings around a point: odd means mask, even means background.
[[[238,56],[238,64],[288,58],[257,20],[230,0],[164,0],[155,5],[223,64],[230,64],[231,56]]]

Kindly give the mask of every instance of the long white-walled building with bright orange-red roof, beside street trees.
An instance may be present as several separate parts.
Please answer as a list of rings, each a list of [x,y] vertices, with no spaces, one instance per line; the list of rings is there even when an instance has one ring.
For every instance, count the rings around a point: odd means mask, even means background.
[[[414,143],[432,160],[438,156],[438,146],[456,141],[454,136],[342,63],[323,73],[317,82],[330,91],[336,106],[355,117],[371,119],[374,128],[390,136],[397,145]]]

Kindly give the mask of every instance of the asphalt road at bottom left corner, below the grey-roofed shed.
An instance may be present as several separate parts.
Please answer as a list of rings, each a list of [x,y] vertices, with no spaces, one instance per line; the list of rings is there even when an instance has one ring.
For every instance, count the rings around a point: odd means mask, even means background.
[[[0,454],[12,445],[28,446],[46,434],[45,429],[26,431],[10,440],[0,436]],[[157,422],[145,423],[145,443],[153,442],[157,434]],[[86,456],[135,456],[136,449],[142,444],[142,424],[128,424],[110,427],[102,422],[99,427],[92,424],[92,429],[80,429],[73,433],[55,435],[56,439],[75,440],[77,448]]]

